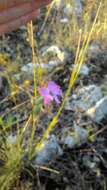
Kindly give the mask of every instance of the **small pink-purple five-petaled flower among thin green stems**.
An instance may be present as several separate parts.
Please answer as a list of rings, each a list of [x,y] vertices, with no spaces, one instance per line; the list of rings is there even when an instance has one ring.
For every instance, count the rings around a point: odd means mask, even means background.
[[[62,90],[54,81],[49,81],[47,87],[39,87],[39,94],[44,97],[44,104],[49,105],[53,100],[60,103],[59,97],[62,96]]]

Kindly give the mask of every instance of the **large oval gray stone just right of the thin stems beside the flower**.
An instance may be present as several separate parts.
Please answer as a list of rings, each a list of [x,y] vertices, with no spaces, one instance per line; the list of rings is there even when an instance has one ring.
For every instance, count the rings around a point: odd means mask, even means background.
[[[85,112],[103,97],[101,88],[97,85],[89,85],[77,91],[65,104],[66,110]]]

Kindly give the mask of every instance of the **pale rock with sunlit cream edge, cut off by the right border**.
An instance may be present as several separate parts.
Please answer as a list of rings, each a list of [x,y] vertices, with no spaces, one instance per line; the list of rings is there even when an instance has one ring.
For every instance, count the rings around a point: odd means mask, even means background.
[[[86,114],[96,123],[100,123],[107,116],[107,96],[88,109]]]

